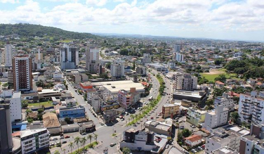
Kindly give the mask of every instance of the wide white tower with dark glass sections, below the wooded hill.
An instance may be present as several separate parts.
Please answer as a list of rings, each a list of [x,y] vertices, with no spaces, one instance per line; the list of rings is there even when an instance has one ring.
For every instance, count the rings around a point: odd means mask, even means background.
[[[79,65],[79,48],[63,44],[60,49],[60,68],[62,70],[75,69]]]

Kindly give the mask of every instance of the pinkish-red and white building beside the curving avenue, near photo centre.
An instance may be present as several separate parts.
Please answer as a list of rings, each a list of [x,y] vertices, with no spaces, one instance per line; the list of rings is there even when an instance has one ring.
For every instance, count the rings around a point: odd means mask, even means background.
[[[117,94],[118,102],[123,108],[128,108],[140,101],[140,93],[136,91],[136,88],[131,88],[130,92],[120,90]]]

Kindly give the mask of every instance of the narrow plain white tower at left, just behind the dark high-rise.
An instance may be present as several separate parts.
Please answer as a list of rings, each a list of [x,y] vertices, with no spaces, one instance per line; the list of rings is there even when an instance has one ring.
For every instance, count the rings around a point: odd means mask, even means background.
[[[12,98],[10,99],[10,115],[12,123],[21,120],[21,108],[21,92],[14,92]]]

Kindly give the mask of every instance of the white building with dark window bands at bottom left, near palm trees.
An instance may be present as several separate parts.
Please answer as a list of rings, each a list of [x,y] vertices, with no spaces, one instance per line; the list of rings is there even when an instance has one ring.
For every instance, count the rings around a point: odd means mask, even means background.
[[[49,135],[46,128],[20,131],[22,154],[48,149]]]

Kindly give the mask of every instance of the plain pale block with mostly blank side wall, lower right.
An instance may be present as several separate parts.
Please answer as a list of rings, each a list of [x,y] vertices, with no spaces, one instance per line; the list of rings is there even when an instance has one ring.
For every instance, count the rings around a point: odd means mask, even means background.
[[[227,124],[228,111],[228,108],[223,105],[217,105],[214,111],[206,113],[203,127],[210,131],[213,128]]]

